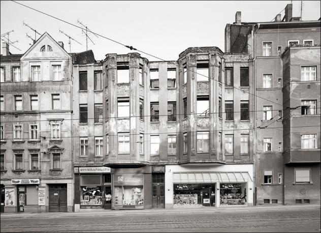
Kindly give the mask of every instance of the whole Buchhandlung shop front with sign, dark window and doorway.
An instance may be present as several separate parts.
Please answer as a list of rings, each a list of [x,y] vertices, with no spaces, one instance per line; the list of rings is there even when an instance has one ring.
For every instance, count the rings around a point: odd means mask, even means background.
[[[75,167],[75,212],[111,209],[111,174],[108,167]]]

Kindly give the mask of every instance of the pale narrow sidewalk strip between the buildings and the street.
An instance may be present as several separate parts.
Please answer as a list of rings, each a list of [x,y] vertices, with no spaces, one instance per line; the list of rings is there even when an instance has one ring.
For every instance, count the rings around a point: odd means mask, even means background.
[[[253,212],[253,211],[288,211],[320,209],[320,204],[256,206],[256,207],[202,207],[146,210],[85,210],[81,212],[46,212],[46,213],[1,213],[1,218],[42,218],[42,217],[79,217],[79,216],[122,216],[122,215],[164,215],[188,213],[220,213],[220,212]]]

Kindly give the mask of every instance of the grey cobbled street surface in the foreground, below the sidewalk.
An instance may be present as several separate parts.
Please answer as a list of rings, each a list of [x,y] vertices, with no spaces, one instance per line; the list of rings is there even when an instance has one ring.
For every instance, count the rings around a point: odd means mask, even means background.
[[[1,218],[1,232],[320,232],[320,209]]]

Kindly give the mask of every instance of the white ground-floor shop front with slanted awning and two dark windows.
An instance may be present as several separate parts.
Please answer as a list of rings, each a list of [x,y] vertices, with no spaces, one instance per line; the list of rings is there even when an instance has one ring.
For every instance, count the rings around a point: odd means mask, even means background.
[[[167,165],[165,207],[253,205],[253,165]]]

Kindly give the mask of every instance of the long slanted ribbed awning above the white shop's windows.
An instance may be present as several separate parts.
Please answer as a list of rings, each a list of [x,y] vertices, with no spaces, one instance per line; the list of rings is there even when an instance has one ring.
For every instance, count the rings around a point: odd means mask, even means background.
[[[252,179],[247,171],[217,171],[217,172],[174,172],[173,183],[247,183]]]

